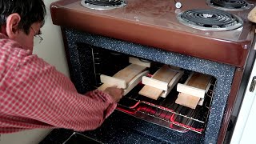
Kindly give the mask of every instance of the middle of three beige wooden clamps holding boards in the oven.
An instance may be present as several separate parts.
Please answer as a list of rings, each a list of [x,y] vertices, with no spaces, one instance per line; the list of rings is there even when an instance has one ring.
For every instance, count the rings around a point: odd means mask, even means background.
[[[145,86],[138,94],[155,100],[160,96],[166,98],[183,74],[183,70],[178,70],[177,67],[164,65],[154,73],[152,78],[142,77],[142,84]]]

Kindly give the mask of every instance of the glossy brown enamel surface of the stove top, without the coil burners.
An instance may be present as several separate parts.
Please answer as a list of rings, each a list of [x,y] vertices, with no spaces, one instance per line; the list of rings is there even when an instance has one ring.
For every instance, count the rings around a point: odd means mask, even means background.
[[[126,0],[126,6],[112,10],[94,10],[82,6],[80,0],[62,0],[51,5],[53,22],[78,30],[118,38],[146,46],[154,46],[180,54],[243,66],[254,38],[254,26],[247,10],[225,10],[241,18],[242,26],[234,30],[199,30],[178,21],[186,10],[218,10],[206,0]]]

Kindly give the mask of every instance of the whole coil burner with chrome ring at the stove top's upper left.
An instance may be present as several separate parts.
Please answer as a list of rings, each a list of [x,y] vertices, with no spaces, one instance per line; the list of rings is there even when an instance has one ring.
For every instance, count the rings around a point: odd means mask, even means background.
[[[94,10],[111,10],[126,6],[124,0],[82,0],[81,4]]]

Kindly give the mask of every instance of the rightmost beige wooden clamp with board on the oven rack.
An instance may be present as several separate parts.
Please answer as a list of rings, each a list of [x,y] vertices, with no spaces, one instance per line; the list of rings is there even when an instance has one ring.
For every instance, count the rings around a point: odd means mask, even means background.
[[[184,84],[178,83],[178,98],[176,103],[195,109],[199,104],[202,105],[206,92],[210,87],[212,77],[206,74],[192,73]]]

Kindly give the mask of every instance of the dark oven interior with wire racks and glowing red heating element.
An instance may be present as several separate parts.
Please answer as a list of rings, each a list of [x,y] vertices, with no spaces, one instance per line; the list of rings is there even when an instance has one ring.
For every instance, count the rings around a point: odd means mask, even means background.
[[[113,52],[106,54],[106,51],[102,52],[94,49],[92,49],[92,55],[96,87],[98,87],[102,84],[99,80],[99,75],[102,74],[102,70],[104,70],[105,73],[107,70],[109,70],[104,69],[104,66],[102,66],[103,63],[104,65],[107,65],[105,62],[108,62],[102,61],[102,59],[106,59],[104,55],[111,55],[107,58],[124,57],[123,55],[120,56]],[[110,73],[111,70],[109,74]],[[186,77],[187,75],[182,77],[180,82],[186,81]],[[118,102],[118,110],[125,112],[126,114],[130,114],[136,118],[146,120],[147,122],[153,122],[154,124],[158,124],[172,130],[177,130],[178,132],[184,133],[191,130],[202,134],[206,128],[208,115],[210,113],[210,106],[214,95],[216,79],[212,79],[210,83],[211,85],[206,93],[203,105],[197,106],[194,110],[175,103],[175,100],[178,97],[176,86],[174,86],[173,90],[166,98],[158,98],[158,100],[154,100],[138,94],[138,91],[142,89],[142,84],[138,84],[138,86],[134,87],[129,94],[126,94],[126,96],[123,97],[120,102]]]

